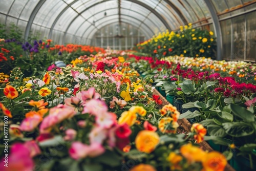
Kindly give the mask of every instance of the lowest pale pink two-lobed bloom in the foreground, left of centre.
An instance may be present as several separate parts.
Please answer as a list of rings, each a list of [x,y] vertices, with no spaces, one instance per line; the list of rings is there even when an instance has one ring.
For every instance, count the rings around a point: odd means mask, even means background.
[[[88,157],[97,157],[105,152],[103,146],[99,143],[91,145],[83,144],[79,141],[73,142],[69,149],[70,157],[78,160]]]

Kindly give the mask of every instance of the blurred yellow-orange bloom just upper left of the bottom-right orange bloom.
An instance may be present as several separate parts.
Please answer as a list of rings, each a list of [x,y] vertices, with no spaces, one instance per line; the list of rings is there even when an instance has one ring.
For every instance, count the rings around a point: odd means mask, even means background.
[[[193,146],[191,143],[181,146],[180,153],[188,160],[189,163],[201,162],[206,156],[206,152],[199,147]]]

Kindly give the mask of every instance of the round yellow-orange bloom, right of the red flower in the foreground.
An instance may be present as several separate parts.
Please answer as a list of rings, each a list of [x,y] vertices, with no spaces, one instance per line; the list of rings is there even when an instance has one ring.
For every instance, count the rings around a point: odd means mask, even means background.
[[[142,130],[135,138],[135,145],[138,151],[151,153],[159,143],[160,138],[157,133],[148,130]]]

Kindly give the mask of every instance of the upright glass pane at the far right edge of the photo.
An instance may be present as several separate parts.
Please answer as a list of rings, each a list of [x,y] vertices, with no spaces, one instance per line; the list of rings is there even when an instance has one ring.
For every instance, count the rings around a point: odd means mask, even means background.
[[[256,62],[256,12],[246,14],[246,60],[252,60]]]

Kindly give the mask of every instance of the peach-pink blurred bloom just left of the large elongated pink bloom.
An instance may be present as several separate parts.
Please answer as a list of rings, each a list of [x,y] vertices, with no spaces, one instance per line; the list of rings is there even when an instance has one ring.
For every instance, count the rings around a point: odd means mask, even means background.
[[[22,131],[31,132],[38,126],[41,120],[42,117],[39,115],[33,115],[31,117],[25,118],[20,124],[19,129]]]

